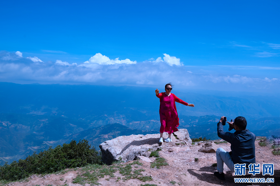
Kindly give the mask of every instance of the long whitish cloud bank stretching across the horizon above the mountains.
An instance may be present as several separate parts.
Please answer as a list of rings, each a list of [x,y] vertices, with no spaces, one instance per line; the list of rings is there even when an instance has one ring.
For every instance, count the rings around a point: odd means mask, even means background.
[[[152,86],[159,88],[167,82],[184,89],[239,90],[239,91],[279,91],[278,77],[250,77],[232,70],[231,66],[184,66],[180,58],[163,54],[163,59],[151,58],[136,62],[129,59],[114,60],[97,53],[88,61],[77,64],[56,60],[44,63],[38,57],[0,51],[0,81],[14,83],[65,83]],[[188,62],[189,64],[189,62]],[[252,67],[242,67],[243,72],[252,71]],[[225,70],[228,69],[228,70]],[[265,70],[278,71],[279,68]],[[226,71],[226,72],[225,72]],[[232,73],[234,72],[234,73]],[[224,74],[223,74],[224,73]],[[163,89],[161,89],[163,91]]]

